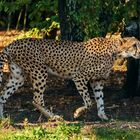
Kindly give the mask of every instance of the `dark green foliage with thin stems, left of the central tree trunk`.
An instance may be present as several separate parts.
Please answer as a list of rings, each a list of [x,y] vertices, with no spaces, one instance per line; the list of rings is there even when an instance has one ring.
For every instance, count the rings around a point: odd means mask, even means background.
[[[57,0],[1,0],[0,12],[0,23],[3,26],[7,25],[8,29],[15,25],[16,29],[19,26],[23,29],[48,29],[54,22],[58,24]],[[58,25],[55,27],[59,28]]]

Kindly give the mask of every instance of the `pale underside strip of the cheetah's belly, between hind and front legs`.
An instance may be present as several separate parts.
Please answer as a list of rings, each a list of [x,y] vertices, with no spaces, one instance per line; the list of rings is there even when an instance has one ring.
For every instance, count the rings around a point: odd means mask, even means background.
[[[51,75],[54,75],[54,76],[62,77],[65,79],[72,79],[72,76],[59,74],[58,72],[52,70],[50,67],[47,67],[47,72]]]

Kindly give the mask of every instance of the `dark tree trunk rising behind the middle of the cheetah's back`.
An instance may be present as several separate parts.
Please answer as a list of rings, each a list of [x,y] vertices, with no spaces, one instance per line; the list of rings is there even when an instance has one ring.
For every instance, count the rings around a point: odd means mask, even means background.
[[[83,41],[83,38],[80,36],[82,33],[80,25],[76,23],[72,15],[72,13],[75,13],[78,10],[77,7],[76,1],[58,0],[62,40]]]

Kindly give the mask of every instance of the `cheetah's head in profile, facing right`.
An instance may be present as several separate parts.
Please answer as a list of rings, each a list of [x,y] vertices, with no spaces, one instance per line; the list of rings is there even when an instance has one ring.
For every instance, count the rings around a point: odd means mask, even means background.
[[[118,56],[123,58],[133,57],[135,59],[139,59],[140,41],[135,37],[122,38]]]

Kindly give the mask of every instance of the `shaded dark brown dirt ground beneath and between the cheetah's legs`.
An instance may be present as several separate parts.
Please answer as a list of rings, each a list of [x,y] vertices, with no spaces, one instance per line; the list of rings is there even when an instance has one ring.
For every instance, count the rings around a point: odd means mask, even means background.
[[[5,81],[7,75],[5,76]],[[82,115],[78,119],[73,118],[74,111],[83,105],[82,98],[78,94],[74,83],[57,77],[50,77],[47,82],[48,88],[45,91],[44,99],[46,106],[58,115],[62,115],[66,121],[101,121],[97,116],[96,103],[93,93],[89,88],[94,105],[91,111]],[[37,123],[40,113],[32,105],[32,86],[27,81],[7,101],[4,107],[5,116],[9,116],[13,122],[21,123],[28,118],[30,123]],[[110,120],[120,121],[139,121],[140,120],[140,98],[122,98],[124,91],[121,86],[106,87],[105,93],[105,111]],[[47,119],[43,117],[42,122]]]

